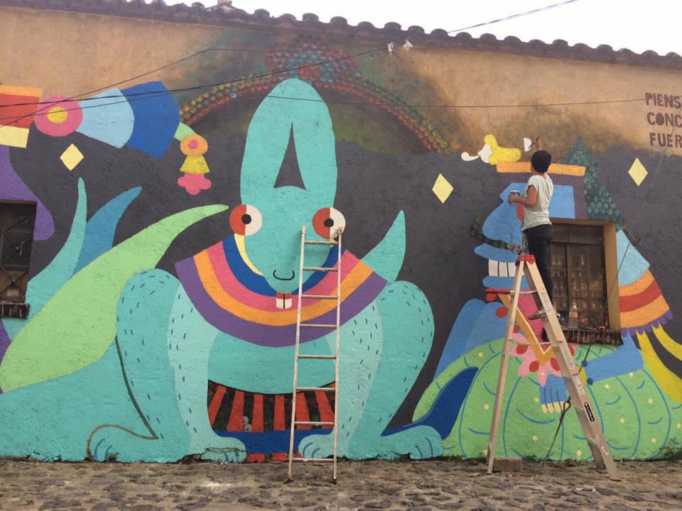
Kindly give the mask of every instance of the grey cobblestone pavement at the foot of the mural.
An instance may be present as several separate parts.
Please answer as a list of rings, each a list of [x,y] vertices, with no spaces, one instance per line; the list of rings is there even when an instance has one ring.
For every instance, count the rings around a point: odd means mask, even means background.
[[[679,510],[682,463],[622,463],[612,482],[591,465],[366,461],[296,466],[35,463],[0,460],[2,510]]]

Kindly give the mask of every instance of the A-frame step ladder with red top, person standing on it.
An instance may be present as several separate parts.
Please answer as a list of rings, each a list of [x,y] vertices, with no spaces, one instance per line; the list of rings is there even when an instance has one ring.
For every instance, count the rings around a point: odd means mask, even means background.
[[[521,279],[526,277],[530,290],[521,291]],[[559,364],[561,375],[563,376],[566,390],[570,396],[570,401],[573,403],[573,408],[578,414],[580,426],[583,428],[585,439],[588,441],[590,451],[595,459],[598,468],[606,468],[609,477],[612,480],[620,480],[616,463],[611,456],[609,446],[604,438],[604,434],[599,425],[597,412],[595,407],[590,402],[590,397],[585,391],[583,382],[580,380],[580,371],[575,366],[573,356],[570,353],[570,348],[563,335],[561,324],[556,316],[556,311],[553,307],[540,272],[535,264],[535,258],[532,255],[521,255],[516,260],[516,273],[514,274],[514,288],[511,290],[497,290],[488,289],[487,293],[495,295],[511,295],[511,306],[507,316],[507,327],[504,331],[504,344],[502,346],[502,361],[499,366],[499,376],[497,378],[497,391],[495,392],[495,405],[492,414],[492,425],[490,427],[490,437],[488,443],[488,473],[491,474],[495,461],[495,447],[497,446],[497,430],[499,427],[499,419],[502,413],[502,400],[504,398],[504,383],[507,380],[507,366],[509,363],[509,351],[511,344],[523,344],[526,346],[537,346],[536,343],[516,341],[512,339],[514,334],[514,323],[517,320],[526,321],[523,314],[519,311],[519,295],[531,295],[537,293],[538,298],[546,312],[542,321],[545,326],[549,344],[553,350],[553,354]],[[504,300],[509,303],[509,297]]]

